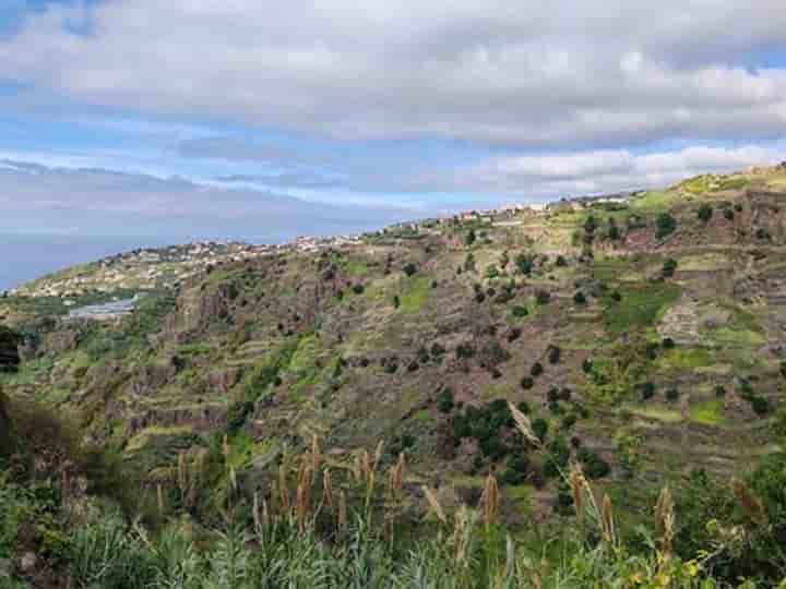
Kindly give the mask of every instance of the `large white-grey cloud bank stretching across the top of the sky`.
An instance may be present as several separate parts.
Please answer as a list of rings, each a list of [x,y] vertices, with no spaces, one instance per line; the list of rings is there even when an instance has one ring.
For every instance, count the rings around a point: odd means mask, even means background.
[[[31,16],[0,77],[342,137],[773,139],[786,73],[735,63],[784,44],[782,0],[124,0]]]

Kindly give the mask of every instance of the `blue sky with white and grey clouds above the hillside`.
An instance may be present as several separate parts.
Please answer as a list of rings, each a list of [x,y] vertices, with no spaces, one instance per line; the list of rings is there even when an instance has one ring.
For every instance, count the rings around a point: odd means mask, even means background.
[[[0,233],[275,241],[784,159],[783,0],[0,2]]]

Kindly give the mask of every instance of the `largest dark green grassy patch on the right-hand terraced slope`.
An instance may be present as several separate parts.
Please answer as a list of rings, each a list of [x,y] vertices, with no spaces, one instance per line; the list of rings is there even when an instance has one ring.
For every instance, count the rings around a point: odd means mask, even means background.
[[[614,334],[653,327],[680,296],[679,287],[670,283],[630,285],[619,290],[622,300],[609,299],[604,309],[606,327]]]

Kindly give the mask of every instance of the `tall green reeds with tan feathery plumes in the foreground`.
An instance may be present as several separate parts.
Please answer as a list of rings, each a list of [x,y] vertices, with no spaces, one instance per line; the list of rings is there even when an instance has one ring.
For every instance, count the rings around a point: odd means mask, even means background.
[[[547,452],[529,422],[511,407],[521,433]],[[225,454],[229,452],[224,444]],[[608,496],[598,497],[577,465],[561,472],[575,508],[574,533],[561,550],[508,534],[499,522],[501,493],[488,474],[476,508],[446,509],[420,488],[407,496],[402,455],[383,472],[381,445],[361,452],[345,472],[326,464],[318,441],[285,459],[266,490],[255,490],[250,514],[230,472],[224,529],[171,517],[157,534],[119,518],[84,526],[74,537],[69,585],[74,588],[202,589],[568,589],[723,585],[701,561],[672,554],[674,502],[665,489],[654,509],[657,538],[633,554],[617,532]],[[188,465],[178,484],[188,496]],[[380,481],[384,481],[384,484]],[[742,489],[738,485],[738,493]],[[748,492],[749,493],[749,492]],[[747,496],[747,495],[746,495]],[[754,500],[746,501],[755,506]],[[409,533],[417,527],[418,534]],[[750,586],[749,586],[750,587]]]

